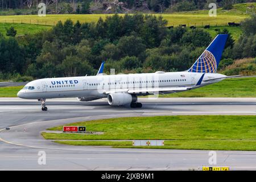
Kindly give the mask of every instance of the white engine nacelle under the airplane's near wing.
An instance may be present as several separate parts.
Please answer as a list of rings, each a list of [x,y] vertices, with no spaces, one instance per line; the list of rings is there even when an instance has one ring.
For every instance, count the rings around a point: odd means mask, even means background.
[[[109,105],[112,106],[123,106],[131,104],[131,102],[136,102],[137,96],[131,95],[129,93],[110,93],[108,94]]]

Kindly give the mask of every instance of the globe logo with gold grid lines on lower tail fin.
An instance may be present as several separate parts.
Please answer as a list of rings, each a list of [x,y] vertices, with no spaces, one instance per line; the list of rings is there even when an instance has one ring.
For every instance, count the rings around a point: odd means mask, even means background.
[[[199,73],[216,73],[217,61],[212,52],[205,50],[188,71]]]

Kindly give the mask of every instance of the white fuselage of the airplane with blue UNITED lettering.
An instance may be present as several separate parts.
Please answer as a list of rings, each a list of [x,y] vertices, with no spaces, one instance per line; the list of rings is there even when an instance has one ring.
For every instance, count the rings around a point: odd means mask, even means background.
[[[129,89],[145,90],[147,88],[195,86],[202,75],[203,73],[191,72],[156,72],[129,75],[43,78],[29,82],[17,95],[20,98],[38,100],[65,97],[104,98],[108,96],[108,93],[126,92]],[[224,76],[218,73],[205,73],[200,86],[221,81]],[[218,77],[220,79],[204,82],[204,80]],[[135,95],[147,94],[150,93],[137,93]]]

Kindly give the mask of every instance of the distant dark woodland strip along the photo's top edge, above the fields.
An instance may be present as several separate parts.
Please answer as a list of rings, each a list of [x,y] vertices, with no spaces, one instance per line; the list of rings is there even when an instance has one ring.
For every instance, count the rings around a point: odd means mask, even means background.
[[[236,3],[255,0],[1,0],[0,8],[2,11],[15,10],[13,14],[17,15],[36,14],[40,2],[46,4],[49,14],[90,14],[192,11],[208,9],[212,2],[229,10]],[[22,11],[24,9],[30,11]]]

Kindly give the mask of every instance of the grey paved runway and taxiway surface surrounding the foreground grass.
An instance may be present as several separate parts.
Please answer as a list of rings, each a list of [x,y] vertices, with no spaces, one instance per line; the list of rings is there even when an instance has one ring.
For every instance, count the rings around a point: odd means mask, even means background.
[[[142,109],[109,106],[106,100],[80,102],[76,98],[40,102],[0,98],[0,169],[67,170],[197,170],[208,165],[209,151],[147,150],[65,146],[44,140],[40,132],[64,123],[147,115],[236,114],[256,115],[256,98],[139,98]],[[10,131],[5,128],[10,127]],[[46,152],[46,165],[38,152]],[[256,152],[216,151],[217,166],[256,169]]]

